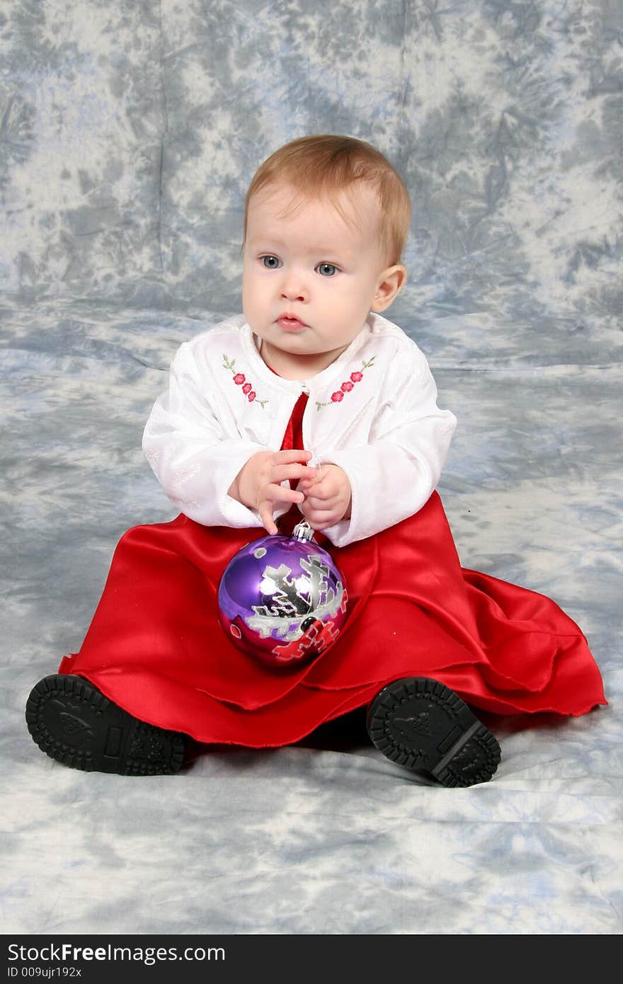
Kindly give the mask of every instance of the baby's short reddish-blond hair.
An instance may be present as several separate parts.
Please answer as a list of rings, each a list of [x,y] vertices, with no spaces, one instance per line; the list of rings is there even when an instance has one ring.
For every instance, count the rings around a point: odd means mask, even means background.
[[[383,256],[387,258],[387,266],[399,264],[405,250],[411,218],[411,203],[405,182],[387,157],[371,144],[338,134],[299,137],[280,147],[260,164],[249,185],[244,203],[241,252],[247,241],[249,202],[263,188],[286,183],[301,193],[303,201],[313,197],[328,197],[343,220],[353,224],[352,216],[343,212],[338,195],[345,191],[351,197],[350,189],[358,182],[363,182],[376,191],[380,211],[379,246]],[[354,207],[354,203],[352,204]]]

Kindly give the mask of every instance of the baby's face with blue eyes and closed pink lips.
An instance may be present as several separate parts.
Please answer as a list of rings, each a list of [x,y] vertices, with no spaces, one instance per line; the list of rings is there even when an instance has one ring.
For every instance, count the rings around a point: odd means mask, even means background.
[[[272,349],[289,353],[290,361],[312,366],[318,356],[322,368],[323,362],[337,358],[363,328],[383,279],[378,200],[368,186],[357,187],[354,196],[359,227],[344,222],[330,201],[317,199],[281,216],[295,197],[288,186],[264,188],[249,202],[242,274],[245,320]],[[352,215],[345,194],[340,202],[345,214]],[[304,327],[280,325],[285,314],[300,319]]]

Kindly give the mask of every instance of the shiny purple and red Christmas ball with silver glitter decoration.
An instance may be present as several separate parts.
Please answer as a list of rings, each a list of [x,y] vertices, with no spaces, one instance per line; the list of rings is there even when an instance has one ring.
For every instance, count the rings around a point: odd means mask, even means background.
[[[307,521],[231,558],[218,585],[218,621],[234,644],[270,666],[301,665],[338,638],[348,596]]]

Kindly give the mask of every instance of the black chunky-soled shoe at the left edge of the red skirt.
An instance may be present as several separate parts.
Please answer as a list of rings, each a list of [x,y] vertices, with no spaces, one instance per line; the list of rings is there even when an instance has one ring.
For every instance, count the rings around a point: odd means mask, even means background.
[[[184,760],[184,735],[117,707],[79,676],[55,673],[31,690],[26,720],[46,755],[73,769],[162,775]]]

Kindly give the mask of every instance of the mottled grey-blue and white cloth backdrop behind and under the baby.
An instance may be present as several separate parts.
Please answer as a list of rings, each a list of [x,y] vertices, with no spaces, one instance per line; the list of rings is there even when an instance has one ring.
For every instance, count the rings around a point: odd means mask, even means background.
[[[241,311],[256,168],[304,134],[413,202],[385,313],[459,427],[466,567],[553,597],[609,707],[488,718],[439,789],[360,715],[178,776],[87,774],[24,705],[88,628],[120,534],[171,519],[141,436],[177,345]],[[620,0],[4,0],[0,367],[5,933],[620,933]]]

